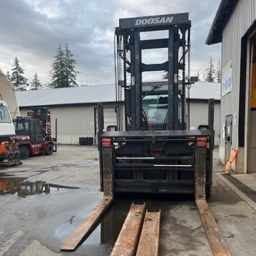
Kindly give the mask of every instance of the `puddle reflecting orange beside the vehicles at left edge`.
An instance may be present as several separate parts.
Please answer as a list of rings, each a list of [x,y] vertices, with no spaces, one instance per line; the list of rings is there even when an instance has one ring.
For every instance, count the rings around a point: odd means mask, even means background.
[[[0,195],[17,194],[20,197],[26,197],[35,194],[48,194],[56,192],[67,192],[69,189],[78,187],[69,187],[46,183],[46,181],[28,181],[26,177],[11,177],[11,175],[0,175]]]

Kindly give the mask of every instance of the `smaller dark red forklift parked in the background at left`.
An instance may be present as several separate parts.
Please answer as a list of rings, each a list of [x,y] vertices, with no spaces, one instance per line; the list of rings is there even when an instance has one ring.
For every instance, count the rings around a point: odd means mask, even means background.
[[[43,119],[38,119],[38,109],[33,109],[34,117],[16,117],[14,119],[15,138],[19,142],[20,158],[30,155],[51,155],[56,152],[56,138],[47,133],[48,109],[40,109]]]

